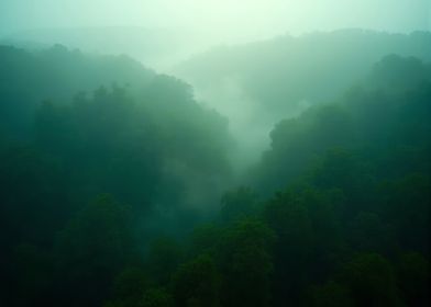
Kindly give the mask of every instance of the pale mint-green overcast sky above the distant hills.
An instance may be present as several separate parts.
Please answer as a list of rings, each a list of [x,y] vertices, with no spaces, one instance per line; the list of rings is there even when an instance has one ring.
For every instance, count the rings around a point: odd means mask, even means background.
[[[431,29],[431,0],[0,0],[2,34],[38,27],[191,27],[243,36]]]

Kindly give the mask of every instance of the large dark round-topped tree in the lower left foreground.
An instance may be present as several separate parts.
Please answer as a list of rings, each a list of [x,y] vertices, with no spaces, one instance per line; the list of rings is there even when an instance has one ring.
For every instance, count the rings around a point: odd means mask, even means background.
[[[129,207],[101,195],[58,234],[56,286],[65,299],[87,305],[100,304],[106,297],[112,278],[133,255],[130,221]]]

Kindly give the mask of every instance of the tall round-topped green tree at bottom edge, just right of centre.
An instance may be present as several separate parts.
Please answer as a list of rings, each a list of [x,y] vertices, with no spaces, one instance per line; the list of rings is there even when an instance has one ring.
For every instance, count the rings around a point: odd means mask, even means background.
[[[273,245],[275,235],[255,219],[240,220],[226,228],[218,247],[223,274],[223,306],[267,306],[270,303]]]

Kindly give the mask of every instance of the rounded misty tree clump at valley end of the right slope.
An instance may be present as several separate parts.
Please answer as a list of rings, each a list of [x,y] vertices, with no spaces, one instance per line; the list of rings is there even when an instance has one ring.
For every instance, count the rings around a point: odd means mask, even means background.
[[[328,105],[279,122],[270,138],[272,150],[263,157],[258,184],[274,191],[303,173],[328,149],[352,146],[355,133],[344,107]]]

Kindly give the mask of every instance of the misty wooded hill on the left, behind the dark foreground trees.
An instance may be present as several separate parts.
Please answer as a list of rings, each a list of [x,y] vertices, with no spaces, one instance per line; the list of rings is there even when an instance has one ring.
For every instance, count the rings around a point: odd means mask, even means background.
[[[0,67],[4,250],[52,242],[101,193],[133,207],[146,234],[178,232],[176,223],[185,230],[196,212],[218,204],[230,181],[228,123],[199,105],[183,81],[126,57],[60,46],[41,53],[2,46]]]

